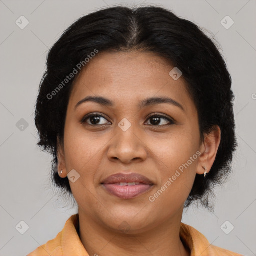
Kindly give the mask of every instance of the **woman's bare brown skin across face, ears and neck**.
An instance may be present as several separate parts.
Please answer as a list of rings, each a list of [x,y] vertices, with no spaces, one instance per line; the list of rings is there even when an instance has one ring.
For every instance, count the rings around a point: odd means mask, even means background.
[[[196,173],[204,173],[202,166],[209,172],[215,160],[220,129],[216,126],[200,141],[196,107],[182,76],[174,80],[169,75],[172,68],[151,52],[99,52],[76,77],[64,143],[58,142],[58,170],[63,178],[72,169],[80,174],[77,181],[69,183],[78,203],[80,239],[91,256],[190,255],[179,237],[183,205]],[[114,105],[87,101],[74,108],[89,95],[108,98]],[[137,107],[140,100],[153,96],[168,96],[184,111],[168,103]],[[99,124],[93,126],[90,118],[80,123],[86,114],[95,112],[105,116]],[[156,112],[175,122],[166,125],[169,121],[161,117],[161,122],[154,124],[148,116]],[[118,126],[123,118],[131,124],[126,131]],[[149,196],[197,151],[200,156],[150,202]],[[118,198],[100,183],[119,172],[140,173],[154,185],[138,197]],[[119,229],[124,221],[127,232]]]

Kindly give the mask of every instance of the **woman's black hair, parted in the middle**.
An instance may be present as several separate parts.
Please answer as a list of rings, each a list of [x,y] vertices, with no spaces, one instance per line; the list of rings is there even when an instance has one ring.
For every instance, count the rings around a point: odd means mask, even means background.
[[[68,178],[57,173],[57,139],[63,141],[65,116],[78,63],[97,49],[103,51],[142,50],[156,53],[182,70],[182,77],[198,112],[201,139],[216,125],[221,141],[211,171],[205,180],[196,174],[185,202],[200,202],[210,209],[209,196],[231,171],[236,149],[231,77],[218,46],[196,24],[156,6],[108,7],[85,15],[68,27],[47,55],[35,108],[38,146],[52,154],[52,183],[72,194]],[[82,62],[83,61],[83,62]],[[66,79],[57,93],[56,87]]]

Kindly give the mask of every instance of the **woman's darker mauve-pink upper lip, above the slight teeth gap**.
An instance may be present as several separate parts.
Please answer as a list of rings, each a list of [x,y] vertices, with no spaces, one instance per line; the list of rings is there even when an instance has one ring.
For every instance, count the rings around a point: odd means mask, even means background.
[[[139,173],[116,173],[107,178],[105,178],[101,183],[110,184],[110,183],[120,183],[120,182],[140,182],[144,184],[153,184],[151,180]]]

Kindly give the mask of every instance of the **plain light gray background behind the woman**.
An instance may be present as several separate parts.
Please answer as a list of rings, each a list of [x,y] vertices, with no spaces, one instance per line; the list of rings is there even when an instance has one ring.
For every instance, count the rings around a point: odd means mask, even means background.
[[[193,206],[182,222],[216,246],[256,255],[255,0],[0,0],[0,255],[28,254],[77,211],[51,187],[51,157],[36,146],[34,104],[48,49],[77,18],[113,4],[167,7],[220,43],[236,95],[239,146],[232,175],[216,189],[215,213]],[[24,29],[15,23],[21,15],[29,21]],[[220,23],[226,15],[234,21],[229,29]],[[20,126],[21,118],[28,127]],[[15,229],[21,220],[29,226],[24,234]],[[220,228],[226,220],[234,226],[229,234]]]

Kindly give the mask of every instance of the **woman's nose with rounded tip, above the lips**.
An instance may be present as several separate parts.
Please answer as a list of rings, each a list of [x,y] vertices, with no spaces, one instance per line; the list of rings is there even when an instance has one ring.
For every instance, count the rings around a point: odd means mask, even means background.
[[[147,157],[146,141],[143,141],[138,130],[131,127],[123,131],[116,127],[115,136],[110,140],[107,157],[110,161],[124,164],[144,161]]]

